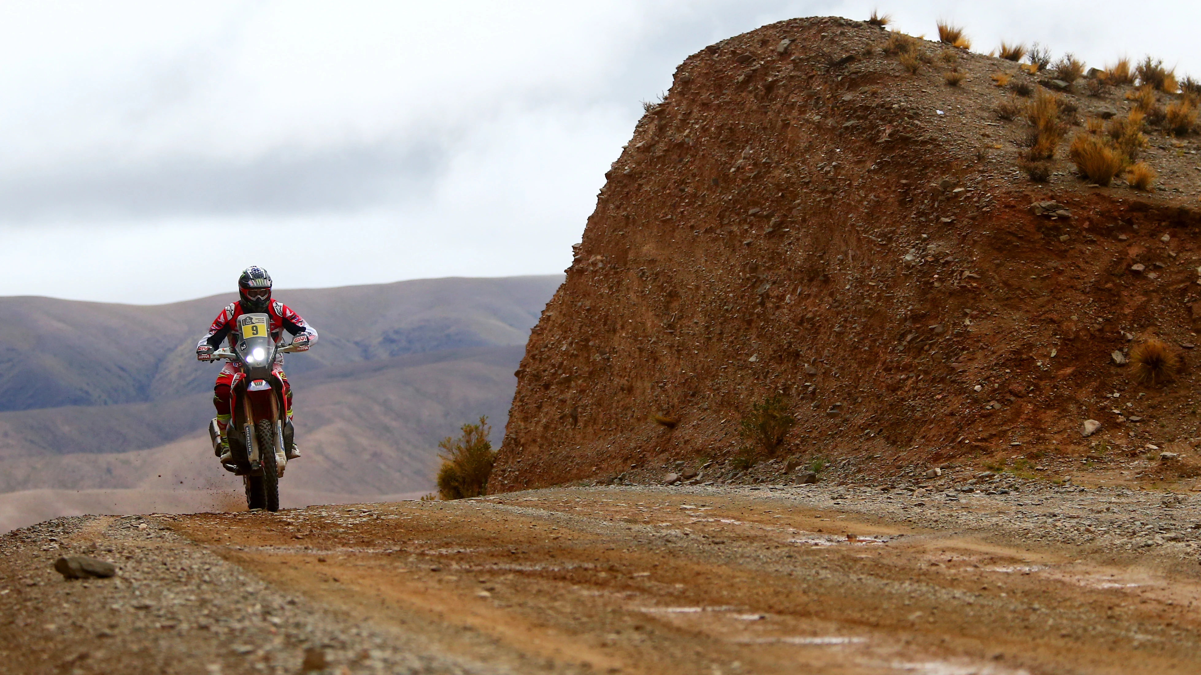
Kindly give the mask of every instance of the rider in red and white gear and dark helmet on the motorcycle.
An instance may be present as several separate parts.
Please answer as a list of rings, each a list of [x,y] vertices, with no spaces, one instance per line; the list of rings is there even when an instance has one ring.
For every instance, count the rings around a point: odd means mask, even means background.
[[[244,269],[241,276],[238,277],[238,294],[240,295],[239,300],[226,305],[221,310],[217,318],[213,321],[213,325],[209,327],[208,334],[201,338],[201,341],[196,345],[196,358],[198,360],[211,362],[213,352],[226,338],[229,339],[229,346],[232,347],[234,345],[234,328],[238,325],[238,317],[245,313],[268,315],[270,317],[269,328],[271,338],[276,345],[280,344],[283,330],[292,334],[292,346],[298,352],[304,352],[317,342],[317,331],[305,323],[300,318],[300,315],[292,311],[283,303],[271,299],[271,276],[267,274],[265,269],[258,265]],[[283,425],[283,447],[286,448],[287,458],[293,460],[300,456],[300,452],[297,450],[295,432],[292,426],[292,387],[283,374],[283,354],[275,356],[271,372],[283,383],[283,406],[287,413],[287,423]],[[229,436],[226,432],[229,426],[232,412],[229,408],[229,390],[234,382],[241,377],[243,372],[238,368],[238,364],[226,362],[225,368],[221,369],[221,374],[217,375],[216,383],[213,386],[213,406],[217,410],[216,423],[221,432],[221,448],[223,453],[229,452]]]

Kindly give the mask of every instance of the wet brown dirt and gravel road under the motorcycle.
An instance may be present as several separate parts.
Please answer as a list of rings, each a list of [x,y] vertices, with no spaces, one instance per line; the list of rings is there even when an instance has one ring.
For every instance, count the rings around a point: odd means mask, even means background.
[[[593,488],[0,538],[10,673],[1201,671],[1191,497]],[[64,549],[120,566],[62,581]]]

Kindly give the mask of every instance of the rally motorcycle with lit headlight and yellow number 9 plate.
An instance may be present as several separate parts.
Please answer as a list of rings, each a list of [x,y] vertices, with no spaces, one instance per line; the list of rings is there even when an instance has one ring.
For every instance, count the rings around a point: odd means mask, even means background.
[[[209,423],[213,453],[221,459],[221,466],[237,476],[246,488],[249,508],[279,510],[280,478],[287,467],[283,444],[287,411],[283,405],[283,382],[273,370],[275,356],[300,350],[279,346],[271,339],[269,317],[265,313],[246,313],[238,317],[237,342],[233,348],[222,347],[213,352],[214,359],[237,363],[240,377],[235,376],[229,388],[229,412],[232,417],[226,434],[229,449],[221,444],[221,432],[214,419]]]

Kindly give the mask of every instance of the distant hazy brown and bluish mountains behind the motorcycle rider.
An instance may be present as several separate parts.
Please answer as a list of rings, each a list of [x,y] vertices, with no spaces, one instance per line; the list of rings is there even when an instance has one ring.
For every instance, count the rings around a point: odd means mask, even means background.
[[[313,350],[285,364],[304,456],[288,466],[283,500],[289,490],[293,503],[304,495],[428,491],[437,441],[480,414],[498,442],[513,371],[561,282],[432,279],[277,291],[321,334]],[[195,357],[196,341],[234,299],[136,306],[0,298],[0,492],[22,492],[7,502],[0,495],[0,531],[25,514],[56,513],[30,506],[61,498],[56,491],[74,495],[64,500],[68,512],[85,508],[85,494],[131,508],[141,491],[168,510],[163,495],[172,491],[240,491],[204,431],[217,366]],[[114,496],[123,490],[135,494]]]

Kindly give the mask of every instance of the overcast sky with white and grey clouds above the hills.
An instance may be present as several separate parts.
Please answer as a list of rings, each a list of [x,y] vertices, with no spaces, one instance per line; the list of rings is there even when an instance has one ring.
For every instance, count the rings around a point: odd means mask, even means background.
[[[562,271],[681,60],[873,7],[1201,74],[1196,2],[0,2],[0,295]]]

